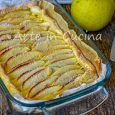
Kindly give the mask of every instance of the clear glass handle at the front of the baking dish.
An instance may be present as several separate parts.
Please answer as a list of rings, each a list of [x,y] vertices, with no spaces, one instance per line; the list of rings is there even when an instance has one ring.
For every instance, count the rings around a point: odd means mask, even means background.
[[[56,112],[60,108],[67,107],[70,109],[70,114],[83,115],[97,107],[99,107],[108,98],[108,92],[103,86],[99,86],[97,90],[80,98],[71,100],[70,102],[57,105],[53,108],[41,108],[44,115],[50,115],[51,111]],[[75,107],[76,111],[71,111],[70,105]],[[73,110],[73,109],[72,109]]]

